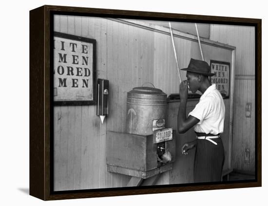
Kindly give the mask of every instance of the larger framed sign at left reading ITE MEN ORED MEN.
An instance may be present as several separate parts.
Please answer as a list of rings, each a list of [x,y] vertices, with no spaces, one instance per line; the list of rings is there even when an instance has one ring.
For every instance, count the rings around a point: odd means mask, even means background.
[[[54,32],[54,105],[95,104],[96,40]]]

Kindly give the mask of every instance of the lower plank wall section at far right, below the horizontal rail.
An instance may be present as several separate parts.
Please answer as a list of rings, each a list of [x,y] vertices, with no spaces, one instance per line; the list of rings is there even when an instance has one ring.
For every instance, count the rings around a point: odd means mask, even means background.
[[[254,173],[255,171],[255,81],[236,80],[234,131],[233,131],[233,167],[234,169]],[[246,103],[251,102],[251,117],[246,117]],[[245,150],[250,150],[249,164],[245,162]]]

